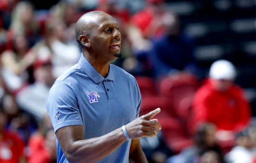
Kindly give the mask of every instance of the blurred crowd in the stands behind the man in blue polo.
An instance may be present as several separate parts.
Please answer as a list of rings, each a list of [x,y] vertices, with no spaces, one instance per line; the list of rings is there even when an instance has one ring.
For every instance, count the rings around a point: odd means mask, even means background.
[[[202,73],[193,39],[164,0],[0,1],[0,162],[56,162],[45,107],[54,81],[81,56],[76,21],[104,11],[122,34],[112,64],[135,76],[143,115],[155,108],[162,130],[141,139],[149,163],[256,163],[256,128],[236,68],[227,60]]]

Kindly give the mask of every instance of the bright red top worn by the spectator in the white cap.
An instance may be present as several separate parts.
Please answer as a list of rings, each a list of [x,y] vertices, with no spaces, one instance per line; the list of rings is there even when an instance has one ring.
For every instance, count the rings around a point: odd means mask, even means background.
[[[209,81],[196,92],[192,113],[193,129],[201,122],[212,122],[218,129],[240,131],[252,117],[249,103],[238,85],[218,92]]]

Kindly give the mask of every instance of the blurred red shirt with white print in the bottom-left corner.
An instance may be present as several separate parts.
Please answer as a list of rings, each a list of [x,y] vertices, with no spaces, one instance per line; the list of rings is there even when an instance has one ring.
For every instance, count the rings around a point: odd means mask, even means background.
[[[0,163],[18,163],[23,155],[25,144],[15,134],[4,132],[0,139]]]

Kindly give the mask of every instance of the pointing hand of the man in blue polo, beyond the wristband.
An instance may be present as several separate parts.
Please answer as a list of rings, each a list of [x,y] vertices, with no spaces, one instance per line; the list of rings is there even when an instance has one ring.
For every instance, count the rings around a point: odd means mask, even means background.
[[[125,125],[126,131],[130,139],[139,139],[141,137],[155,137],[157,129],[161,130],[161,124],[157,119],[152,119],[161,111],[157,108],[145,115],[140,116],[136,120]]]

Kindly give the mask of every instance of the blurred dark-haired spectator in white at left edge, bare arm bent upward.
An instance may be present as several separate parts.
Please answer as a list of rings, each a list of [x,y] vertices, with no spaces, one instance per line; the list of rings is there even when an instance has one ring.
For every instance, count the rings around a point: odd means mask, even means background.
[[[36,59],[35,49],[29,50],[24,35],[16,35],[13,40],[13,50],[1,54],[1,76],[6,90],[15,95],[29,84],[28,68]]]

